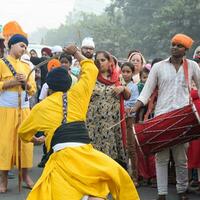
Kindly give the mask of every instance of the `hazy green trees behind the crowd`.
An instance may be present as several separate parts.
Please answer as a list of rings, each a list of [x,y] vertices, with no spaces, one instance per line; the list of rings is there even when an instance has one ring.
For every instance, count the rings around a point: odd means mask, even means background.
[[[127,57],[132,49],[140,49],[147,59],[169,55],[170,39],[176,33],[190,35],[200,45],[200,0],[112,0],[105,12],[75,13],[57,30],[50,30],[49,45],[81,44],[91,36],[96,49],[108,50],[117,57]],[[192,54],[192,51],[190,55]]]

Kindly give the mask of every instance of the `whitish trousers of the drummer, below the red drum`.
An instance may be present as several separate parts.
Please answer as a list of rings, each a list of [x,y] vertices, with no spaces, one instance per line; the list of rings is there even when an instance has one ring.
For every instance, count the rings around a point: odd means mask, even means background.
[[[187,167],[188,144],[181,144],[170,148],[176,168],[176,189],[178,193],[185,192],[188,188],[188,167]],[[168,193],[168,163],[170,149],[167,148],[156,154],[156,175],[158,194]]]

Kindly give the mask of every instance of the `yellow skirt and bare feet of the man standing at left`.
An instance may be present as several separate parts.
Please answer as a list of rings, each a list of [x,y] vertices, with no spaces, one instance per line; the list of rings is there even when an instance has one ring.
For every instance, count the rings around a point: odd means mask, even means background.
[[[22,120],[29,114],[29,109],[22,111]],[[6,118],[5,118],[6,116]],[[7,119],[7,120],[5,120]],[[18,110],[13,108],[0,108],[0,170],[1,183],[0,193],[7,191],[8,186],[8,171],[16,166],[18,168],[18,140],[17,135]],[[33,144],[21,141],[21,167],[22,178],[27,187],[32,188],[33,181],[28,175],[28,169],[33,165]]]

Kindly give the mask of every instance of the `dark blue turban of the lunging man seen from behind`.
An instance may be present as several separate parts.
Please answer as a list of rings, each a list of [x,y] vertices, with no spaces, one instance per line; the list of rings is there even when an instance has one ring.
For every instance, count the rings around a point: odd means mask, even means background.
[[[58,67],[47,74],[46,83],[53,91],[67,92],[71,87],[72,78],[64,67]]]

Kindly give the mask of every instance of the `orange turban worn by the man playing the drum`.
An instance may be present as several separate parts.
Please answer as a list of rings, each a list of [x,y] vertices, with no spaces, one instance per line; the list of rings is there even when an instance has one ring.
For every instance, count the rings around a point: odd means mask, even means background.
[[[171,40],[171,43],[182,44],[187,49],[191,48],[193,42],[191,37],[181,33],[176,34]]]

